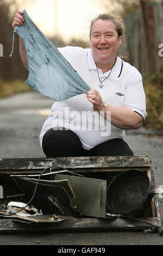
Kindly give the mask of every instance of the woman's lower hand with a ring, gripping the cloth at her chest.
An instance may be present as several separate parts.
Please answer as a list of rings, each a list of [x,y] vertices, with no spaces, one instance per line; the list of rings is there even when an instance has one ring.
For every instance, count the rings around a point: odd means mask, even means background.
[[[99,94],[98,90],[90,89],[87,94],[87,99],[93,104],[94,111],[103,111],[104,109],[104,102],[102,100],[101,95]]]

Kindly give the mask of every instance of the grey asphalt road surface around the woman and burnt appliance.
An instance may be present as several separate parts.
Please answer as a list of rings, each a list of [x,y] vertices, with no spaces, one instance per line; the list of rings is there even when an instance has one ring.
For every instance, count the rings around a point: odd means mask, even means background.
[[[39,135],[53,101],[36,92],[0,100],[0,158],[45,157]],[[152,135],[152,136],[151,136]],[[134,155],[152,156],[156,186],[163,185],[163,138],[141,128],[127,131]],[[159,211],[163,221],[162,199]],[[0,245],[162,245],[163,236],[143,231],[1,234]]]

